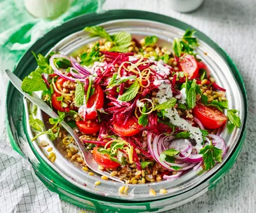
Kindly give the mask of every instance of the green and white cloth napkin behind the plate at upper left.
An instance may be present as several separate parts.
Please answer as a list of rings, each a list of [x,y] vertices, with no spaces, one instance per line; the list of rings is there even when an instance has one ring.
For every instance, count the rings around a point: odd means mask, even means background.
[[[75,0],[55,20],[34,18],[23,0],[0,0],[0,68],[13,69],[20,57],[41,36],[78,15],[101,12],[105,0]]]

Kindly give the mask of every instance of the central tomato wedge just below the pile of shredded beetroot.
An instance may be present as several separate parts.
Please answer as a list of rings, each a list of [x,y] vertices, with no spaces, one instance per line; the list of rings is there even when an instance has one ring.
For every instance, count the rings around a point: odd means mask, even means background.
[[[114,123],[113,128],[122,136],[133,136],[140,132],[142,126],[137,123],[135,118],[129,118],[126,125],[117,125]]]

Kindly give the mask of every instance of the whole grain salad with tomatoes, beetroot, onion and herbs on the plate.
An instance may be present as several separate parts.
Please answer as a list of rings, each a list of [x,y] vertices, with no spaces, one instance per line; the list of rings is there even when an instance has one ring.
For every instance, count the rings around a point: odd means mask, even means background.
[[[158,46],[156,36],[138,41],[128,32],[84,30],[100,39],[79,55],[33,53],[38,67],[22,81],[22,90],[42,91],[60,118],[49,118],[46,130],[35,108],[29,116],[32,140],[46,134],[59,141],[66,158],[89,172],[59,124],[65,120],[99,168],[126,184],[175,179],[222,161],[226,146],[220,133],[225,127],[232,132],[241,121],[195,53],[194,30],[176,38],[172,49]],[[49,156],[55,160],[54,153]]]

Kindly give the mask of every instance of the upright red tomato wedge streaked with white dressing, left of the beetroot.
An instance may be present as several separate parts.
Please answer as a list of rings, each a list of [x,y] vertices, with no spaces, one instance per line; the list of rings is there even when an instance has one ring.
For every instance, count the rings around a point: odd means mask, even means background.
[[[102,109],[104,104],[104,94],[100,85],[95,85],[94,94],[88,99],[87,108],[93,108],[93,111],[86,113],[86,119],[93,120],[97,117],[96,109]],[[80,115],[83,117],[83,115]]]

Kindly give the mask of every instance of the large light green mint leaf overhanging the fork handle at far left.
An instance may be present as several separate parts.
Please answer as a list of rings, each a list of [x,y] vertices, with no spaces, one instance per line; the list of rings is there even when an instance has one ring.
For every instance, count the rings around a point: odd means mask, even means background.
[[[21,88],[30,95],[35,91],[47,90],[46,83],[43,81],[41,74],[37,71],[32,71],[29,76],[24,78]]]

